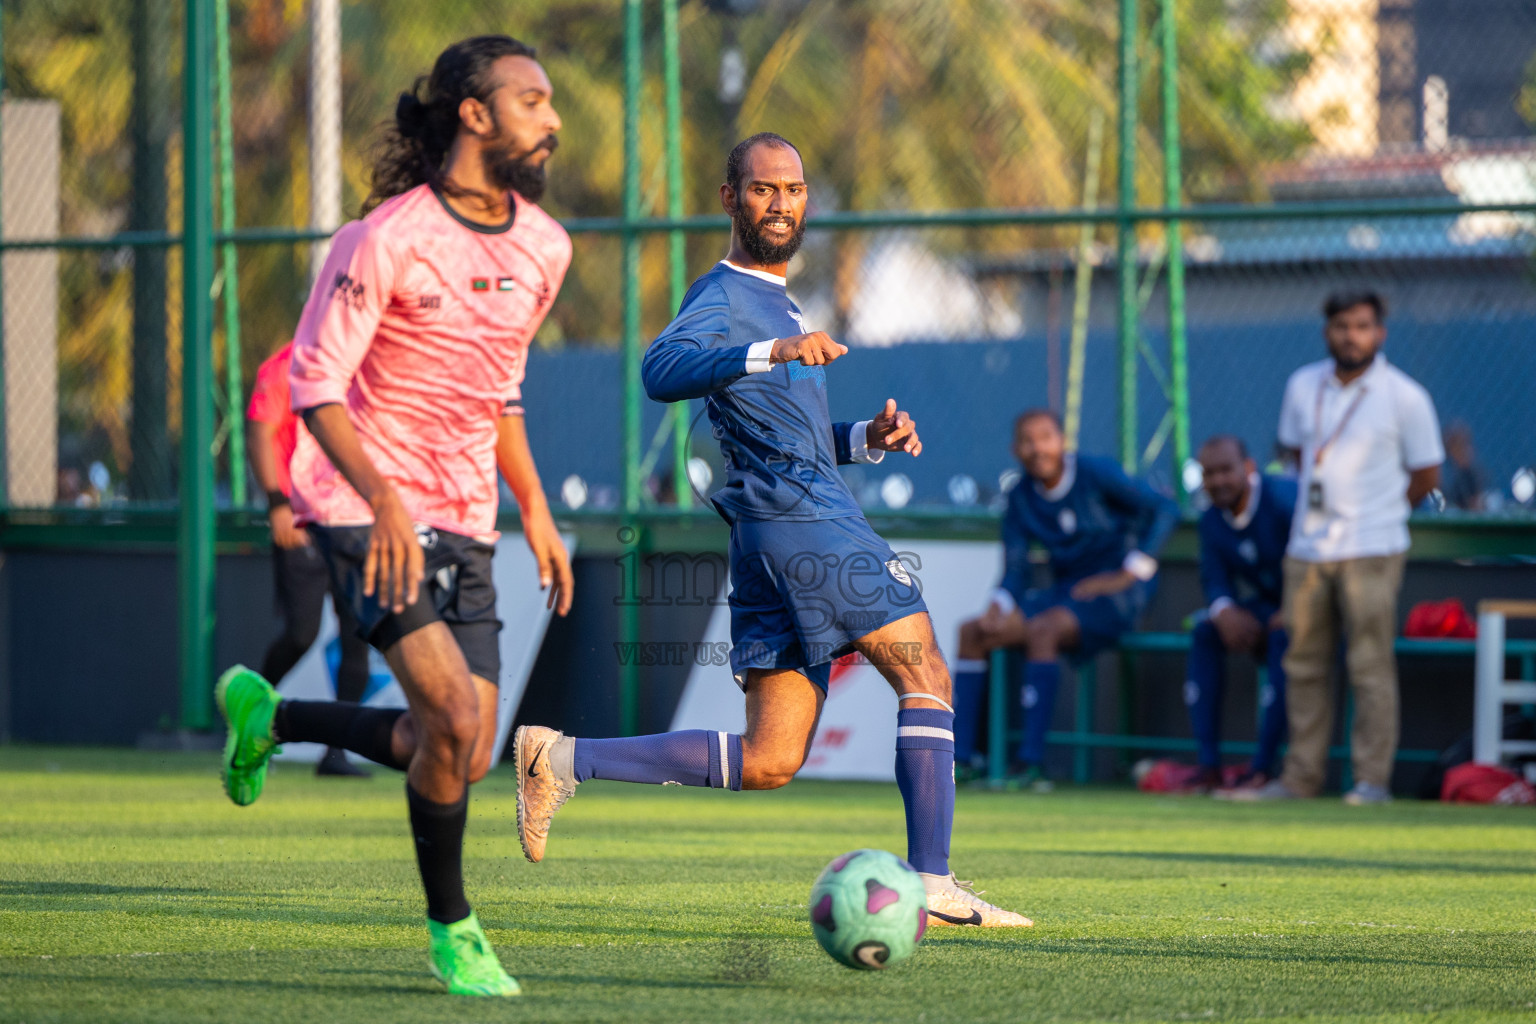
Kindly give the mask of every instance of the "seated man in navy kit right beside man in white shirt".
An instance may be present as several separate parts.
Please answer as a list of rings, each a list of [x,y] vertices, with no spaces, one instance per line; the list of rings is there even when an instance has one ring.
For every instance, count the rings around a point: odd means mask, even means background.
[[[1279,614],[1283,563],[1296,508],[1296,482],[1260,476],[1241,441],[1218,434],[1200,448],[1210,508],[1200,517],[1200,585],[1206,614],[1189,637],[1184,703],[1200,743],[1200,788],[1221,788],[1221,694],[1227,652],[1252,654],[1269,668],[1260,692],[1258,749],[1238,786],[1263,786],[1275,774],[1286,738],[1286,626]]]

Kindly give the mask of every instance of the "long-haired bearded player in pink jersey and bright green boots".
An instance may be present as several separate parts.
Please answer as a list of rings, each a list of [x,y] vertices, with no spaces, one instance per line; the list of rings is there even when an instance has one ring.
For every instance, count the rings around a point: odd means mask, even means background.
[[[293,339],[293,510],[409,711],[280,700],[235,668],[224,789],[261,795],[283,742],[406,769],[433,973],[449,992],[518,995],[464,897],[468,785],[490,769],[501,672],[492,548],[496,471],[522,510],[539,583],[570,609],[570,559],[522,422],[528,342],[570,264],[535,203],[561,127],[533,49],[455,43],[401,95],[366,216],[332,239]]]

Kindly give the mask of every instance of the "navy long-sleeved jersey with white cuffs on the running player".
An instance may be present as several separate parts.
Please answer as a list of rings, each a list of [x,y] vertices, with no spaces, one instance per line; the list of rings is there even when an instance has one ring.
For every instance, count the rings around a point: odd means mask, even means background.
[[[725,457],[711,496],[727,522],[862,516],[837,467],[851,462],[851,422],[826,410],[826,368],[780,362],[748,373],[754,342],[802,335],[780,278],[719,263],[645,350],[641,379],[657,402],[705,399]]]

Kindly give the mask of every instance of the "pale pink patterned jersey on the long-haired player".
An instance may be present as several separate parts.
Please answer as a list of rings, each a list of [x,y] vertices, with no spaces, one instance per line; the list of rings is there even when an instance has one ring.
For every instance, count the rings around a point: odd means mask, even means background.
[[[459,218],[430,186],[347,224],[293,338],[293,410],[344,404],[412,519],[478,537],[496,528],[496,421],[522,413],[528,342],[571,259],[565,229],[515,198],[508,227]],[[290,468],[300,522],[373,522],[307,431]]]

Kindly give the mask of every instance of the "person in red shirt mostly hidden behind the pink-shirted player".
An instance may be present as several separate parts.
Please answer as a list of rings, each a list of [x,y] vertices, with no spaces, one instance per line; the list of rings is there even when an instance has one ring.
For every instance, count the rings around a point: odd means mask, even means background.
[[[289,462],[303,424],[289,404],[289,364],[293,342],[267,356],[257,370],[246,410],[250,442],[250,471],[267,493],[267,520],[272,528],[272,586],[283,631],[267,645],[261,677],[273,683],[287,676],[319,636],[319,619],[330,593],[326,559],[310,543],[309,534],[293,522],[293,481]],[[336,700],[356,702],[369,686],[369,645],[356,634],[346,597],[335,600],[341,620],[341,659],[336,663]],[[370,772],[347,760],[339,746],[326,748],[315,766],[316,775],[367,777]]]

